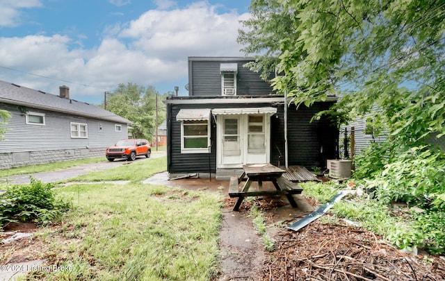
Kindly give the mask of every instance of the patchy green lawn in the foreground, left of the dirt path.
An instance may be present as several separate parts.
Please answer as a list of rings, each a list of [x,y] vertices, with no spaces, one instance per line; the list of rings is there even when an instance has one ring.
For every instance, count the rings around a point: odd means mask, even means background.
[[[115,169],[113,174],[161,169],[154,158]],[[127,167],[137,166],[138,169]],[[161,167],[161,168],[159,168]],[[104,179],[101,173],[83,176]],[[105,176],[106,177],[106,176]],[[124,176],[117,176],[124,178]],[[107,178],[109,180],[109,178]],[[223,196],[132,181],[79,183],[54,189],[71,198],[73,210],[60,225],[41,228],[34,239],[49,246],[41,258],[65,271],[36,271],[42,280],[211,280],[218,273]]]

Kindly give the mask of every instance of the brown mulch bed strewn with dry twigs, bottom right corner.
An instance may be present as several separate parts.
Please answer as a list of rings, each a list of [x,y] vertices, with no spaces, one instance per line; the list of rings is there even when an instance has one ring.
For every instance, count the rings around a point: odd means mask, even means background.
[[[281,207],[274,201],[258,203],[266,220],[268,211]],[[249,209],[249,203],[243,207]],[[379,235],[346,223],[314,221],[298,232],[282,228],[273,239],[275,250],[266,253],[258,280],[445,280],[444,257],[403,253]]]

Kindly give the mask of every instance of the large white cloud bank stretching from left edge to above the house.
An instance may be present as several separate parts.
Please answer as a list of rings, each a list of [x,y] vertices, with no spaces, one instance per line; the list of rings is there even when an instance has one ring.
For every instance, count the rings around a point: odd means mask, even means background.
[[[100,103],[104,90],[119,83],[171,83],[172,90],[187,79],[188,56],[243,56],[236,37],[238,21],[245,17],[218,14],[206,2],[149,10],[127,24],[105,28],[104,39],[92,49],[72,49],[75,41],[65,35],[0,37],[0,79],[52,94],[67,85],[73,99],[90,103]]]

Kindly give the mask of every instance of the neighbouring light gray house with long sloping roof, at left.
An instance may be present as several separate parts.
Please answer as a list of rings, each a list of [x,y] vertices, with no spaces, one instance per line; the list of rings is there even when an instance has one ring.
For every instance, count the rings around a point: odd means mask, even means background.
[[[104,156],[128,137],[131,121],[70,99],[70,89],[48,94],[0,81],[0,110],[11,114],[0,140],[0,169]]]

